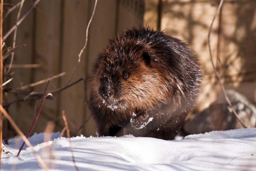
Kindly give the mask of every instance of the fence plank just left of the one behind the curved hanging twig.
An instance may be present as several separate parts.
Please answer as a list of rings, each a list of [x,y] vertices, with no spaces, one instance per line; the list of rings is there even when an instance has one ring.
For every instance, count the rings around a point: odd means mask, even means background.
[[[60,36],[61,36],[61,5],[62,0],[44,0],[41,1],[36,11],[36,33],[35,33],[35,50],[34,63],[41,64],[41,67],[34,69],[33,81],[37,82],[45,78],[59,74],[59,55],[60,55]],[[54,79],[50,82],[47,90],[59,88],[58,81]],[[42,92],[45,84],[38,85],[34,91]],[[58,120],[58,96],[53,100],[45,100],[41,114],[40,122],[35,127],[35,132],[42,132],[48,120]],[[60,131],[62,127],[58,124],[55,131]]]

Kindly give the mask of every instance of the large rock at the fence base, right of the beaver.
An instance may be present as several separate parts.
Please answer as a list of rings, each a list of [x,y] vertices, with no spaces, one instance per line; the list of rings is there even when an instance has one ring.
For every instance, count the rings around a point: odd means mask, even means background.
[[[226,90],[240,120],[248,128],[255,127],[256,108],[242,94],[234,90]],[[209,108],[201,113],[193,114],[184,125],[184,131],[188,134],[200,134],[216,130],[230,130],[244,128],[236,119],[232,109],[226,102],[224,94],[221,94]]]

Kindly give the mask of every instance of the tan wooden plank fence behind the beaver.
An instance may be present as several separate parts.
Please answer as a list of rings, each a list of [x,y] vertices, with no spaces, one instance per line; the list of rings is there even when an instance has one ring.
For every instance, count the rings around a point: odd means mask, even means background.
[[[6,0],[8,4],[18,2]],[[25,1],[21,15],[31,3],[33,0]],[[8,87],[19,88],[62,72],[66,72],[65,76],[52,80],[48,89],[65,85],[78,64],[78,53],[85,44],[86,28],[94,4],[94,0],[41,0],[18,27],[16,45],[25,43],[26,47],[15,51],[14,66],[10,71],[13,81]],[[207,44],[209,26],[218,4],[219,0],[99,0],[89,28],[86,50],[71,82],[81,77],[86,77],[85,83],[88,82],[95,58],[108,43],[108,38],[117,36],[127,28],[148,25],[180,38],[197,53],[204,69],[202,95],[198,99],[198,111],[203,110],[220,92]],[[4,12],[7,12],[12,6],[6,4],[4,7]],[[4,33],[15,23],[17,12],[18,9],[4,21]],[[245,94],[254,103],[255,33],[256,1],[225,0],[211,34],[214,60],[225,87]],[[6,46],[12,46],[12,39],[13,34],[5,41]],[[17,64],[39,64],[40,67],[14,68]],[[55,122],[54,131],[61,131],[64,127],[61,113],[65,110],[71,134],[95,135],[92,118],[74,134],[89,118],[84,86],[87,87],[87,84],[79,82],[54,96],[53,100],[46,100],[34,132],[43,132],[50,120]],[[42,92],[44,88],[45,84],[27,90]],[[8,93],[6,102],[24,98],[24,95]],[[29,130],[39,102],[17,102],[8,108],[9,114],[24,133]],[[6,120],[4,133],[8,137],[14,135]]]

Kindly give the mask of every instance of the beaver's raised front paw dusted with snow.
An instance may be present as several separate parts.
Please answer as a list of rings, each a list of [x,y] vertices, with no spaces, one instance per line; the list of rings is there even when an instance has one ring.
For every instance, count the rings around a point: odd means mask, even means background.
[[[132,114],[132,118],[130,120],[130,123],[132,127],[135,129],[142,129],[144,128],[149,122],[151,122],[153,118],[149,118],[148,114]]]

